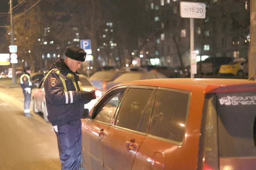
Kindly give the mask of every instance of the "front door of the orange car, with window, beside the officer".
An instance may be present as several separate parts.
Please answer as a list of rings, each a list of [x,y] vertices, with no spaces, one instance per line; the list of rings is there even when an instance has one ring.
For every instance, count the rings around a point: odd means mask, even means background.
[[[108,92],[92,109],[92,119],[82,122],[84,169],[103,169],[103,143],[126,87]]]

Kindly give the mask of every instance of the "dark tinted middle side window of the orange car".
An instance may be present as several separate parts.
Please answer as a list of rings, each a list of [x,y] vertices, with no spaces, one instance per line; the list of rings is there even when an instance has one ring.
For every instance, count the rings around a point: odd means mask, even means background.
[[[147,128],[144,126],[139,128],[140,122],[146,123],[149,121],[150,109],[146,110],[150,96],[154,90],[153,89],[142,89],[142,88],[130,88],[124,97],[122,106],[118,111],[118,116],[116,119],[116,126],[127,128],[131,130],[140,129],[141,132],[146,133]],[[143,113],[147,115],[143,116]],[[148,118],[148,120],[145,120]]]

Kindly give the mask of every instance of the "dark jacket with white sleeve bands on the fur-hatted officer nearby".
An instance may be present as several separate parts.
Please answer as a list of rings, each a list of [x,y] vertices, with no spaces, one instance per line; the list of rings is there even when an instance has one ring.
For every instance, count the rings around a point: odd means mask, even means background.
[[[60,74],[54,71],[54,68],[60,70]],[[44,80],[48,120],[55,126],[81,119],[84,112],[84,104],[89,103],[91,100],[82,100],[78,82],[80,79],[76,75],[79,73],[72,72],[62,58],[58,59],[56,63],[53,63],[50,70],[52,71]],[[66,77],[68,73],[71,73],[73,78]],[[64,86],[60,76],[65,78],[67,92],[64,92]],[[77,90],[73,82],[76,83]]]

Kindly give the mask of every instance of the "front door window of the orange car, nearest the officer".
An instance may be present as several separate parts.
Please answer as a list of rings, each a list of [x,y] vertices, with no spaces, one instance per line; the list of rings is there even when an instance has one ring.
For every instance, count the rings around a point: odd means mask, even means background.
[[[117,105],[122,98],[124,90],[115,92],[97,110],[94,119],[100,122],[110,123],[114,117]]]

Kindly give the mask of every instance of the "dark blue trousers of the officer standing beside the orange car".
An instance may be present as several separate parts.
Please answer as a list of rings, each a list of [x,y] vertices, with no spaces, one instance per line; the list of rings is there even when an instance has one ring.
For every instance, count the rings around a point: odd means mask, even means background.
[[[62,170],[78,170],[82,152],[82,123],[81,120],[58,125],[55,131],[58,142]]]

